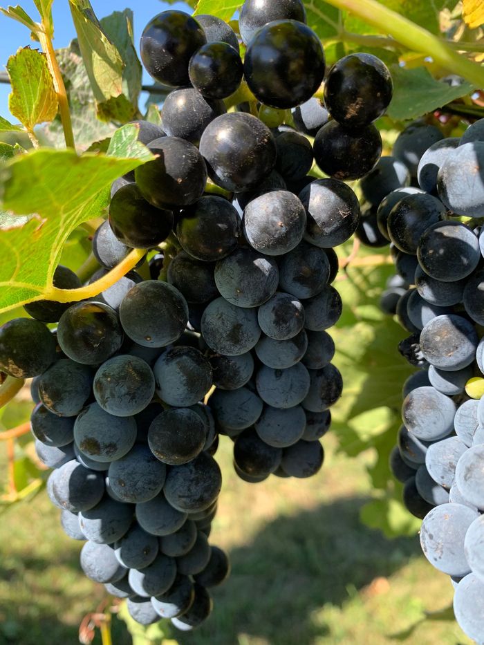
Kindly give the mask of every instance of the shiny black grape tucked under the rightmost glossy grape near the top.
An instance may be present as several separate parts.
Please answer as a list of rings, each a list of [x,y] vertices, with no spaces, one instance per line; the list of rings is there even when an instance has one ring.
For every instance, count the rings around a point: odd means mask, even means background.
[[[324,174],[354,180],[373,170],[382,154],[382,138],[373,124],[348,130],[330,121],[317,133],[313,149],[315,162]]]

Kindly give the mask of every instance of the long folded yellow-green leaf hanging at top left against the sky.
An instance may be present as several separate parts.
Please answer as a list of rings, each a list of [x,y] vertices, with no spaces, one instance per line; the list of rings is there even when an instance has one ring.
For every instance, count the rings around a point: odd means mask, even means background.
[[[124,64],[95,17],[89,0],[69,0],[82,59],[95,100],[103,103],[122,94]]]

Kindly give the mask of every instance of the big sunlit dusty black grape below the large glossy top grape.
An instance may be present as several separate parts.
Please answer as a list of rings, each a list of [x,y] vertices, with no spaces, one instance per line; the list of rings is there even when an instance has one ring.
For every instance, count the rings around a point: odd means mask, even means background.
[[[200,152],[212,181],[233,192],[256,187],[276,163],[276,144],[268,127],[241,112],[214,119],[202,135]]]

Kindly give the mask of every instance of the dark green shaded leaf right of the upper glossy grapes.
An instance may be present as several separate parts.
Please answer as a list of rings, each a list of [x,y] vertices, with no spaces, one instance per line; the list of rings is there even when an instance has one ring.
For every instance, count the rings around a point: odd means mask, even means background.
[[[404,69],[391,67],[393,99],[387,110],[395,120],[415,119],[444,106],[473,91],[472,85],[464,82],[451,87],[431,76],[427,68]]]

